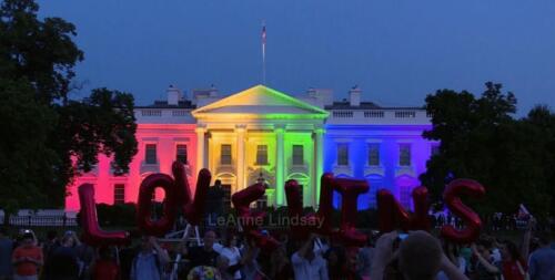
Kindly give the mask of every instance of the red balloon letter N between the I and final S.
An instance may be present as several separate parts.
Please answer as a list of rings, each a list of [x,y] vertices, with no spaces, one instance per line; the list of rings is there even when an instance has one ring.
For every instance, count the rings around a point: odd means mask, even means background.
[[[408,214],[401,206],[393,194],[386,189],[377,191],[377,216],[379,228],[382,232],[390,232],[401,226],[403,230],[430,229],[430,218],[427,211],[427,188],[416,187],[412,191],[414,203],[414,214]]]

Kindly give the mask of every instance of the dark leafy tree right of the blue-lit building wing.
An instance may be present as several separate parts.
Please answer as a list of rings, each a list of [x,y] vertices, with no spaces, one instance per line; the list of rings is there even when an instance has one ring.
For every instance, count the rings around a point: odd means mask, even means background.
[[[536,216],[553,210],[555,114],[547,107],[517,120],[515,96],[488,82],[480,97],[437,91],[426,97],[426,110],[433,128],[424,137],[441,141],[421,175],[434,199],[451,179],[466,177],[486,188],[485,199],[474,205],[483,214],[515,212],[521,203]]]

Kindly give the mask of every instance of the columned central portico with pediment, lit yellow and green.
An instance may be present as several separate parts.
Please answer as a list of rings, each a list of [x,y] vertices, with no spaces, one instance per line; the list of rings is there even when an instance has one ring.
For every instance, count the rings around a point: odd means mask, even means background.
[[[303,204],[317,206],[323,170],[324,110],[256,85],[192,112],[198,169],[206,167],[233,194],[261,176],[268,205],[286,204],[284,183],[297,179]]]

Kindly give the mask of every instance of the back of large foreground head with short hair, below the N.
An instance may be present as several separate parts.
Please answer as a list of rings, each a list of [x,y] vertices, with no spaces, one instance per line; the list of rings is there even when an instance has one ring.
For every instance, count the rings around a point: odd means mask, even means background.
[[[398,268],[406,280],[435,279],[442,260],[442,247],[433,236],[415,231],[398,248]]]

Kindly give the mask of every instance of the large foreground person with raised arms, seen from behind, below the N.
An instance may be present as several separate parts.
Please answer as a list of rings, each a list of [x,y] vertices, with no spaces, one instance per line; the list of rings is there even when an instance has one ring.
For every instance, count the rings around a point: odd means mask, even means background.
[[[389,279],[384,276],[394,262],[405,280],[435,280],[440,270],[450,280],[468,279],[443,253],[440,241],[426,231],[413,231],[402,241],[396,231],[382,235],[376,241],[370,279]]]

